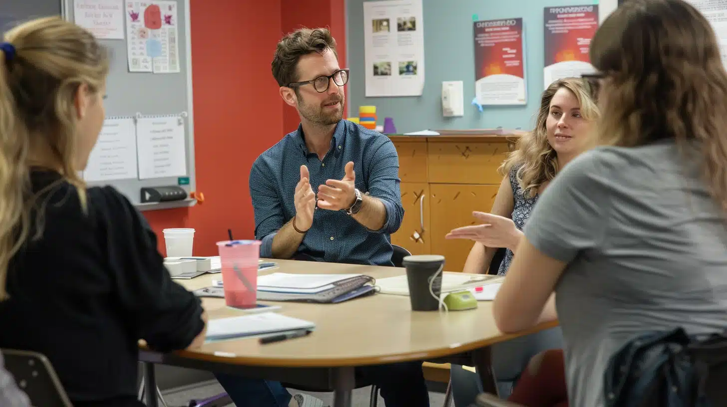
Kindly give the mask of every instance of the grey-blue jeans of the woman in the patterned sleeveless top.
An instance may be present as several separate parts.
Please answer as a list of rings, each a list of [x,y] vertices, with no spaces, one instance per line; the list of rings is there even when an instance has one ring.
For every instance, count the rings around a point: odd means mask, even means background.
[[[492,345],[492,370],[497,380],[497,392],[500,398],[504,399],[510,395],[515,382],[533,356],[544,350],[562,347],[563,331],[560,327]],[[455,407],[474,404],[477,395],[484,391],[478,374],[465,370],[462,366],[451,365],[449,375]]]

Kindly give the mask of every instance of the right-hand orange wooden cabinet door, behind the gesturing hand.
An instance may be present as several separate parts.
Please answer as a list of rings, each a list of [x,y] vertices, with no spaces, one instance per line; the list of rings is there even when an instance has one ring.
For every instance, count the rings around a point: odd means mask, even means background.
[[[444,236],[455,227],[477,225],[472,211],[489,212],[499,185],[430,184],[432,254],[442,254],[444,270],[462,271],[473,241],[447,240]]]

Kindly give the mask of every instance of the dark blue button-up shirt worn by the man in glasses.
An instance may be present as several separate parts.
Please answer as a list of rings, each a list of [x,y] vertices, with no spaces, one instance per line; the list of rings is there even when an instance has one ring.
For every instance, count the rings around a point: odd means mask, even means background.
[[[354,164],[356,188],[379,198],[386,207],[384,226],[368,230],[345,211],[316,208],[313,226],[297,252],[324,262],[393,265],[390,234],[401,226],[404,214],[396,149],[385,135],[348,120],[337,124],[331,148],[322,161],[306,148],[299,126],[252,164],[250,196],[255,238],[262,240],[261,257],[272,257],[273,237],[295,215],[293,196],[300,181],[300,166],[308,166],[310,186],[317,193],[318,185],[326,180],[343,178],[348,161]]]

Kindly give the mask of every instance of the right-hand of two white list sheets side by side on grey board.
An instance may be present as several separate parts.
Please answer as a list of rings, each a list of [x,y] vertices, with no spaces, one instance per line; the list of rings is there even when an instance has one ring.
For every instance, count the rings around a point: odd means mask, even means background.
[[[137,120],[139,179],[187,175],[184,119],[179,116]]]

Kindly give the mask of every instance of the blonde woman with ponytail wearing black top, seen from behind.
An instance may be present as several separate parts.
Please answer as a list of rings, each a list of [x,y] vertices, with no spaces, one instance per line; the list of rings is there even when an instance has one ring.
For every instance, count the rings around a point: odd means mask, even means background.
[[[196,347],[206,321],[134,206],[79,178],[107,74],[105,49],[57,17],[0,44],[0,347],[46,355],[76,407],[142,406],[138,340]]]

